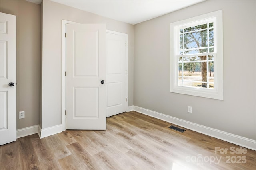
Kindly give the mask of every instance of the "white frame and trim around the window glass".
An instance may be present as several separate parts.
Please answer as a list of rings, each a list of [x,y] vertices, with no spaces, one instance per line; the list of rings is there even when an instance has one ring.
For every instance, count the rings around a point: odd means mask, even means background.
[[[214,21],[214,89],[178,86],[178,57],[180,49],[180,29]],[[196,16],[170,24],[171,73],[170,92],[223,100],[223,23],[222,10]],[[202,53],[204,54],[204,53]]]

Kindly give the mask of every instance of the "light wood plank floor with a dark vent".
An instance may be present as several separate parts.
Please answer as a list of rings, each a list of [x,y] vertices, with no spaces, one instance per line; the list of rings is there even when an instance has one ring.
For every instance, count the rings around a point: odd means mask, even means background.
[[[238,145],[188,129],[180,133],[170,125],[132,111],[108,117],[106,131],[22,137],[0,146],[0,169],[256,170],[256,151],[238,153]],[[215,153],[215,147],[227,153]]]

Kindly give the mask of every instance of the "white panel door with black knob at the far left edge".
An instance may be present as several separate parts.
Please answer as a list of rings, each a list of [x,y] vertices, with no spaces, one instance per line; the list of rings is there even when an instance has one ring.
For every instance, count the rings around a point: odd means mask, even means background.
[[[0,13],[0,145],[16,141],[16,16]]]

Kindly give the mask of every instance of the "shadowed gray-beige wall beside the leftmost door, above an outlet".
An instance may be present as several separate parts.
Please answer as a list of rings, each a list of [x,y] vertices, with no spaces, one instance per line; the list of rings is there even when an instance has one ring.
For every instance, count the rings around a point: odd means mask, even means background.
[[[40,113],[40,5],[1,0],[0,12],[16,15],[17,129],[39,124]],[[18,112],[25,111],[19,119]]]

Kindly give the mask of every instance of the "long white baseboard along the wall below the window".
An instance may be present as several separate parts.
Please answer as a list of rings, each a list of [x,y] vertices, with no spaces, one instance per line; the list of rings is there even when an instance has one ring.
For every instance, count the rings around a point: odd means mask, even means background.
[[[211,136],[211,137],[215,137],[217,139],[221,139],[223,141],[234,143],[236,145],[240,145],[240,146],[246,147],[248,149],[256,150],[256,140],[252,140],[252,139],[249,139],[249,138],[234,135],[232,133],[227,133],[227,132],[224,132],[224,131],[220,131],[218,129],[213,129],[213,128],[206,127],[206,126],[203,126],[203,125],[192,123],[190,121],[185,121],[185,120],[182,120],[182,119],[178,119],[176,117],[172,117],[172,116],[169,116],[169,115],[164,115],[162,113],[158,113],[156,111],[144,109],[142,107],[138,107],[138,106],[129,106],[129,107],[130,108],[133,107],[133,110],[137,111],[139,113],[142,113],[142,114],[145,114],[145,115],[148,115],[148,116],[151,116],[151,117],[155,117],[157,119],[167,121],[169,123],[176,124],[178,126],[190,129],[192,131],[196,131],[196,132],[202,133],[204,135],[208,135],[208,136]]]

